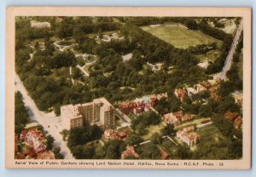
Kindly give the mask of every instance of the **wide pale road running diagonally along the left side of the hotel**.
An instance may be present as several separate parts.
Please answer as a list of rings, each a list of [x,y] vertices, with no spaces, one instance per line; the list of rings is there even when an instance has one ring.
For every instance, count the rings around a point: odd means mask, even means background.
[[[20,91],[22,94],[30,118],[36,120],[54,137],[55,142],[53,146],[60,146],[61,154],[63,154],[66,159],[73,159],[71,151],[67,148],[66,142],[62,140],[62,135],[60,134],[62,130],[61,117],[56,117],[54,112],[45,113],[44,111],[39,111],[17,74],[15,74],[15,91]]]

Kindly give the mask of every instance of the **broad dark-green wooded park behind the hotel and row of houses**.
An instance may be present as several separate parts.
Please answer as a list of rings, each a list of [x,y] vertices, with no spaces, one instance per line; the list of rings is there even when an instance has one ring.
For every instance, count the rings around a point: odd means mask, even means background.
[[[38,108],[42,111],[53,107],[55,113],[59,114],[61,105],[90,101],[100,96],[105,96],[115,103],[119,100],[130,100],[143,94],[172,93],[179,83],[197,83],[198,80],[205,80],[207,77],[201,68],[194,66],[197,60],[188,52],[175,49],[172,45],[161,41],[137,26],[122,27],[121,33],[126,35],[123,41],[96,44],[93,39],[84,37],[86,35],[84,31],[79,33],[78,30],[74,29],[74,26],[79,26],[79,23],[88,19],[73,20],[67,18],[67,20],[71,20],[71,22],[64,23],[64,19],[61,24],[69,26],[66,30],[70,28],[76,31],[70,35],[73,35],[76,42],[79,43],[78,47],[84,52],[98,55],[96,65],[89,68],[89,79],[84,81],[79,72],[74,71],[72,77],[80,79],[85,83],[84,86],[79,83],[72,86],[70,80],[65,76],[50,77],[52,69],[74,66],[77,61],[71,51],[55,52],[49,37],[44,37],[45,50],[37,49],[29,62],[27,60],[30,58],[29,54],[32,54],[32,49],[25,47],[24,43],[23,46],[16,46],[16,71],[21,80],[24,81],[25,87],[32,95]],[[112,21],[110,20],[110,22]],[[104,21],[104,23],[107,22]],[[18,27],[17,31],[24,30],[24,26]],[[20,36],[17,36],[17,39],[19,38]],[[30,38],[26,38],[26,41],[30,40]],[[128,53],[132,53],[132,58],[124,62],[121,55]],[[169,73],[170,60],[172,61],[171,64],[181,68]],[[149,69],[144,70],[143,65],[147,61],[164,62],[165,69],[155,73]],[[143,74],[140,73],[142,70]],[[130,88],[119,89],[123,86],[134,87],[135,89],[132,92]]]

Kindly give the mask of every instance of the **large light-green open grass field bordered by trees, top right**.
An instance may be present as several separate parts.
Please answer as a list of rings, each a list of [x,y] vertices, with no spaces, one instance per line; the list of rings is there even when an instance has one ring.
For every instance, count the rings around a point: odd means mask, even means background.
[[[155,37],[159,37],[160,39],[166,41],[166,43],[171,43],[176,48],[187,49],[190,46],[214,42],[218,43],[218,46],[221,44],[221,42],[217,39],[209,37],[203,34],[201,31],[192,31],[181,27],[143,26],[142,29],[153,34]]]

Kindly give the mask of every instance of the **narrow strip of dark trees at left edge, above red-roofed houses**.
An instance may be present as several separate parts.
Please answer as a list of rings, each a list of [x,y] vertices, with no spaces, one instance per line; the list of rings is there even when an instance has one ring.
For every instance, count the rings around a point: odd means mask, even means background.
[[[15,93],[15,133],[20,134],[21,130],[29,123],[29,116],[24,106],[23,97],[20,92]]]

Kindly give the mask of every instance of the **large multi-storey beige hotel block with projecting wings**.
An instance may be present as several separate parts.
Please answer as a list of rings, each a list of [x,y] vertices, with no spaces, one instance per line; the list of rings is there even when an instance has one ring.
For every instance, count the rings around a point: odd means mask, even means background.
[[[115,109],[105,98],[92,102],[61,106],[63,129],[83,127],[85,123],[97,124],[103,129],[115,128]]]

